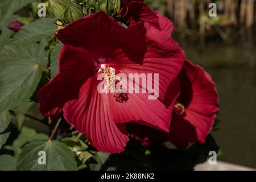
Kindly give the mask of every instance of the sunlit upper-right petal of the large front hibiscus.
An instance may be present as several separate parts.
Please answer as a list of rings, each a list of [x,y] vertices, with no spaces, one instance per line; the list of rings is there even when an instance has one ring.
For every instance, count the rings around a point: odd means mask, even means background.
[[[110,67],[125,75],[129,75],[129,73],[159,74],[158,99],[164,102],[168,85],[177,77],[183,67],[185,55],[179,44],[164,32],[156,30],[148,23],[145,23],[145,27],[147,28],[147,53],[144,56],[143,65],[134,64],[124,55],[119,55],[110,63]]]

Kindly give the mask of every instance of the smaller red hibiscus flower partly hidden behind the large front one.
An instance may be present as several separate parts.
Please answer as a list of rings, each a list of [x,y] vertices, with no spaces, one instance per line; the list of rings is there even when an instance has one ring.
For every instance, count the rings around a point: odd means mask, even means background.
[[[205,143],[219,109],[215,84],[203,68],[189,61],[185,61],[178,79],[181,93],[174,106],[170,133],[127,123],[131,136],[144,146],[164,140],[170,140],[178,148],[188,143]]]

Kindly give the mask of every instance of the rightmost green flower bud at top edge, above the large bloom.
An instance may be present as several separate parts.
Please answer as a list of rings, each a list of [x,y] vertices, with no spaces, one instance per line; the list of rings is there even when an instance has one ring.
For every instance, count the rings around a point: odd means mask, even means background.
[[[109,15],[118,14],[120,11],[120,6],[120,0],[100,0],[98,2],[100,11],[108,13]]]

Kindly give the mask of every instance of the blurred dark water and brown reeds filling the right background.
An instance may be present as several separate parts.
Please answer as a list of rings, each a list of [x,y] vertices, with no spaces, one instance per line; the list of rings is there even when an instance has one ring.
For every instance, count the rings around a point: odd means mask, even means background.
[[[209,3],[217,16],[209,16]],[[255,0],[147,0],[174,22],[186,57],[216,82],[221,110],[212,135],[224,162],[256,168]]]

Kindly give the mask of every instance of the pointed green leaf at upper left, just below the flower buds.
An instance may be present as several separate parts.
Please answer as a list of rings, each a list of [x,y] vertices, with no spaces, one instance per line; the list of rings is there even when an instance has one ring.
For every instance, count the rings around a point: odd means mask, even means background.
[[[56,30],[57,26],[54,24],[53,19],[41,18],[22,27],[9,44],[23,46],[28,43],[38,42],[53,35]]]

